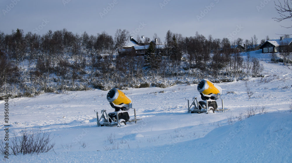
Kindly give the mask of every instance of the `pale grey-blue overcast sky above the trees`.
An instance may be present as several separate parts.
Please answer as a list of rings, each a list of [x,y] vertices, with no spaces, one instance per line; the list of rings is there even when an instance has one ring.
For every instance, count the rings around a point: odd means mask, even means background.
[[[114,36],[117,29],[126,29],[134,38],[157,33],[164,41],[171,30],[184,37],[198,31],[230,41],[256,34],[260,42],[267,35],[279,39],[277,34],[292,31],[280,26],[291,26],[291,20],[272,19],[279,17],[272,0],[1,0],[0,9],[0,30],[6,34],[17,28],[41,35],[66,28],[78,34],[106,31]]]

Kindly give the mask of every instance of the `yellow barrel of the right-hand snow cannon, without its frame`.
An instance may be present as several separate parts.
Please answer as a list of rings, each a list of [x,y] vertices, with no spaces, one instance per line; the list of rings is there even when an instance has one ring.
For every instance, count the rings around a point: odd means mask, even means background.
[[[220,86],[217,86],[207,79],[203,79],[199,82],[197,90],[201,94],[202,100],[217,100],[222,93],[222,88]]]

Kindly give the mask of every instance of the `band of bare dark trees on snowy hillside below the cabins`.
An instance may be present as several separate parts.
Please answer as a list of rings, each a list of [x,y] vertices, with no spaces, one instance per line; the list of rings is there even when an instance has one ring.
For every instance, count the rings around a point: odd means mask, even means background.
[[[129,37],[130,32],[121,29],[114,36],[105,31],[97,35],[74,34],[67,29],[49,30],[43,35],[24,34],[21,29],[12,30],[11,34],[0,31],[1,93],[32,96],[92,88],[166,87],[197,83],[205,77],[220,82],[259,76],[262,71],[256,58],[244,60],[241,53],[231,48],[258,44],[255,35],[244,42],[241,38],[206,38],[198,32],[183,37],[168,30],[164,56],[157,55],[151,42],[156,38],[162,42],[156,33],[152,39],[145,39],[149,44],[145,56],[134,52],[117,55]],[[107,59],[102,58],[103,54],[109,55]]]

